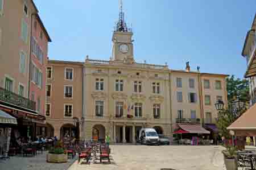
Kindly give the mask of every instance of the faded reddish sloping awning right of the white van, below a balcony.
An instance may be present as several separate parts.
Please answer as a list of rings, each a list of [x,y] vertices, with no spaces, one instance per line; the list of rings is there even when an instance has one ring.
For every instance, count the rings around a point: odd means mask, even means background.
[[[191,124],[191,123],[178,123],[180,128],[182,128],[185,131],[188,131],[191,134],[210,134],[208,130],[205,130],[205,128],[201,127],[200,124]]]

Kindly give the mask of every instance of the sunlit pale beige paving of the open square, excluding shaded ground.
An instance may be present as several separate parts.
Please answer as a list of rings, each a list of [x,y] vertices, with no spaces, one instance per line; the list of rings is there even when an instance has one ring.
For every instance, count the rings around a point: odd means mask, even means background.
[[[79,169],[148,169],[222,170],[220,146],[111,146],[112,164],[73,164],[69,170]]]

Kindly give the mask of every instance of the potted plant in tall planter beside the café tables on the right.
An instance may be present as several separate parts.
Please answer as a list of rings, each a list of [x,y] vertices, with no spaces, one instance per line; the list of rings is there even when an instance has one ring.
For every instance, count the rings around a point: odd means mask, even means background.
[[[222,151],[226,170],[237,170],[237,147],[225,146],[226,150]]]

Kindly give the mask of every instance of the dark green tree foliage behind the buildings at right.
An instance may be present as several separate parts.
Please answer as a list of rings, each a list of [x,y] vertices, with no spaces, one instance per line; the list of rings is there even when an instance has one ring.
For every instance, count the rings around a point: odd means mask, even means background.
[[[234,77],[234,75],[226,78],[226,86],[228,91],[228,101],[232,102],[234,97],[241,101],[250,100],[249,81],[246,79]]]

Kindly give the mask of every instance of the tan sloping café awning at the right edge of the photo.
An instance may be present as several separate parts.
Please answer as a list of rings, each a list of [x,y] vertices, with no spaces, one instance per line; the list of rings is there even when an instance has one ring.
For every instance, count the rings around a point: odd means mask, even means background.
[[[256,104],[251,106],[250,109],[245,111],[234,121],[228,128],[234,131],[256,131]]]

